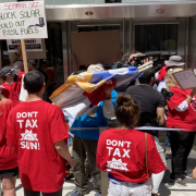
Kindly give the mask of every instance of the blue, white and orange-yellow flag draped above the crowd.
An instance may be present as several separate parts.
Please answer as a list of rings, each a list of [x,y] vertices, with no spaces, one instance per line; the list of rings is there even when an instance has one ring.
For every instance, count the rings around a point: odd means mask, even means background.
[[[142,73],[135,66],[109,70],[102,72],[71,75],[65,84],[60,86],[50,96],[50,100],[61,107],[61,109],[72,118],[77,118],[89,113],[94,107],[94,101],[102,100],[102,86],[115,81],[117,86],[121,86],[132,79],[139,77]]]

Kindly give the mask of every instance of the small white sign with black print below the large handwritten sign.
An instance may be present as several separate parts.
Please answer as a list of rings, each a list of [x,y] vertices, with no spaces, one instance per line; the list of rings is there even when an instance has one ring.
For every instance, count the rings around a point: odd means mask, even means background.
[[[9,53],[16,52],[17,46],[20,45],[21,45],[20,39],[8,39],[7,46]],[[26,47],[26,51],[42,51],[41,39],[25,39],[25,47]]]

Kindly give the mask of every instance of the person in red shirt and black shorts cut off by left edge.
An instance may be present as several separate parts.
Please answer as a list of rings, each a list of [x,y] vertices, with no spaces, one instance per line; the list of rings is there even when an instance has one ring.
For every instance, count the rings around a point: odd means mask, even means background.
[[[11,100],[5,99],[0,86],[0,176],[4,195],[15,196],[15,181],[19,175],[17,157],[14,149],[7,146],[7,118],[12,108]]]

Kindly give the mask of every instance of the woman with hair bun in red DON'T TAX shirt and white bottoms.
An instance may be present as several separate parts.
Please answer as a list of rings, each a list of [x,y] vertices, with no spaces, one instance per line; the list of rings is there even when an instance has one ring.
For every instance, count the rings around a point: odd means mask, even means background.
[[[105,131],[98,140],[97,167],[109,172],[108,196],[151,196],[151,173],[166,170],[151,135],[134,130],[139,107],[130,95],[117,97],[119,128]],[[147,135],[147,164],[145,158]],[[147,172],[148,170],[148,172]],[[148,174],[147,174],[148,173]],[[148,181],[149,180],[149,181]]]

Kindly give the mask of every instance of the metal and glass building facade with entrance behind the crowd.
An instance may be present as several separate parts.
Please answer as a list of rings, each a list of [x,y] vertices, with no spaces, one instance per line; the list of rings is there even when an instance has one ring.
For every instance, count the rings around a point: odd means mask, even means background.
[[[16,0],[0,0],[0,2]],[[71,33],[119,29],[121,52],[161,52],[183,57],[186,68],[196,69],[195,0],[45,0],[48,39],[47,58],[62,66],[62,84],[73,71]],[[168,42],[170,46],[168,46]],[[7,41],[0,41],[0,66],[9,64]],[[41,65],[42,61],[37,61]]]

